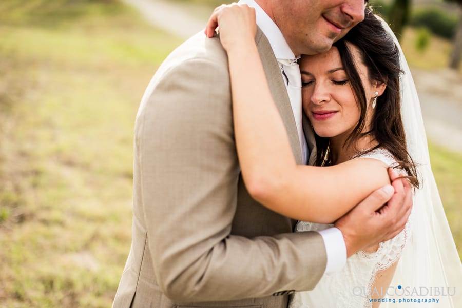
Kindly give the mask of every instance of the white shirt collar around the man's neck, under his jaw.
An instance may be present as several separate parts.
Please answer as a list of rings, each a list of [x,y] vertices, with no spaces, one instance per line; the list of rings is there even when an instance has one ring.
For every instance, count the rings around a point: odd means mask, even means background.
[[[255,9],[257,25],[268,39],[269,45],[273,49],[276,59],[296,59],[291,48],[288,46],[281,30],[269,18],[265,11],[255,2],[255,0],[240,0],[239,3],[245,3]]]

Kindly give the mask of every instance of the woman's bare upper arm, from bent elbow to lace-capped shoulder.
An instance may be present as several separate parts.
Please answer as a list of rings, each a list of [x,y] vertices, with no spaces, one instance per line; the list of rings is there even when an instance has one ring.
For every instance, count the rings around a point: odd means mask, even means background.
[[[269,208],[298,220],[331,223],[348,213],[390,180],[383,162],[358,158],[330,167],[298,165],[278,195],[259,200]]]

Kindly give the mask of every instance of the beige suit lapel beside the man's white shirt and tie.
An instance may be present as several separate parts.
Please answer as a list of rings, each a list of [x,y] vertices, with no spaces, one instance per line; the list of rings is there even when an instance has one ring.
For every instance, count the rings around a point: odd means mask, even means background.
[[[297,126],[295,125],[294,113],[292,112],[291,102],[288,98],[287,89],[282,79],[279,64],[274,56],[273,49],[269,45],[268,39],[263,32],[257,28],[255,42],[260,53],[260,58],[265,69],[266,79],[269,89],[276,102],[282,121],[287,130],[287,135],[294,152],[295,160],[298,164],[302,163],[300,141],[298,139]]]

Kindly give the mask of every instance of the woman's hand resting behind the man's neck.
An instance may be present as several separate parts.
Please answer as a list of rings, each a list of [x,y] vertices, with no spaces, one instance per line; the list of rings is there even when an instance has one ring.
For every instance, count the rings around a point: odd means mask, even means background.
[[[226,51],[254,42],[257,32],[255,9],[246,4],[221,5],[211,14],[205,35],[214,36],[217,27],[220,27],[220,41]]]

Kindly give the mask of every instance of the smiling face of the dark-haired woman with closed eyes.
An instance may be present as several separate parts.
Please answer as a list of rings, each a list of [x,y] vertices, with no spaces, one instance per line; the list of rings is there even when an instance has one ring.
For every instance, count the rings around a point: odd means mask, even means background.
[[[359,50],[353,45],[349,47],[370,105],[377,87],[369,81],[368,69],[360,60]],[[348,138],[358,124],[360,110],[338,49],[332,47],[326,53],[303,56],[300,71],[303,110],[316,134],[328,138]],[[369,127],[368,118],[372,118],[371,106],[367,109],[366,128]]]

